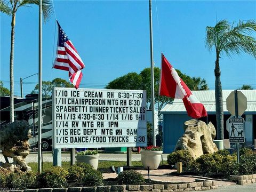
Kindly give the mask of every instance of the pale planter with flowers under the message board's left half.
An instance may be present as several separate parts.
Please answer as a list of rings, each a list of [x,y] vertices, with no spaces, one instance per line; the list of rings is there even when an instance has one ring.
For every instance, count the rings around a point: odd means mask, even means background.
[[[79,151],[76,154],[76,162],[84,162],[93,166],[95,170],[98,169],[100,154],[97,150]]]

